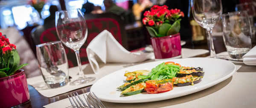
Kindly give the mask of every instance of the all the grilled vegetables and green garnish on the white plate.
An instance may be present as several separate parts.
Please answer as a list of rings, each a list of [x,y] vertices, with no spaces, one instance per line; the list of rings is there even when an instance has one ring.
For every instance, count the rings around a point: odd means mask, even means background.
[[[163,62],[149,70],[125,72],[124,84],[117,87],[122,95],[156,94],[174,89],[174,86],[189,86],[201,82],[203,68],[181,66],[175,62]]]

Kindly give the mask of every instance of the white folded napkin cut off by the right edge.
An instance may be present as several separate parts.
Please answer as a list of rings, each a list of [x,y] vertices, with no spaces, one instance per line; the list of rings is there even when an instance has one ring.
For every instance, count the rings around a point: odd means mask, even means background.
[[[247,65],[256,65],[256,46],[243,56],[243,62]]]

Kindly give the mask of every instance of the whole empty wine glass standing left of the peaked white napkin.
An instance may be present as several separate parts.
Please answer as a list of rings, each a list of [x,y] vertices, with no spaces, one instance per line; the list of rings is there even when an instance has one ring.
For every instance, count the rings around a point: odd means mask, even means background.
[[[81,67],[79,49],[87,38],[87,26],[81,10],[57,11],[55,13],[55,27],[61,42],[76,52],[79,78],[71,84],[80,85],[95,80],[95,77],[86,77]]]

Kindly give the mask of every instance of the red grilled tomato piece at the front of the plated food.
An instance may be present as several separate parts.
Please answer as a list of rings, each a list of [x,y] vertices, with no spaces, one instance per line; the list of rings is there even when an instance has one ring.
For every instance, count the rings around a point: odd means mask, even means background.
[[[173,83],[171,79],[148,80],[145,83],[146,83],[145,90],[149,94],[156,94],[159,92],[170,91],[173,89]]]

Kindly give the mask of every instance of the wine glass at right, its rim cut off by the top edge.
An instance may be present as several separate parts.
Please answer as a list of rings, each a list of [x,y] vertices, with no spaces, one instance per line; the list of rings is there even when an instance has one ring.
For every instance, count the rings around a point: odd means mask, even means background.
[[[212,28],[221,19],[221,0],[192,0],[191,3],[195,21],[207,29],[210,43],[210,57],[217,58],[212,41]]]

